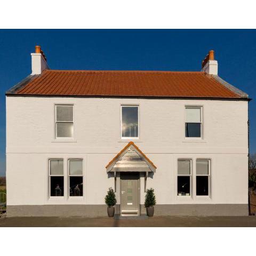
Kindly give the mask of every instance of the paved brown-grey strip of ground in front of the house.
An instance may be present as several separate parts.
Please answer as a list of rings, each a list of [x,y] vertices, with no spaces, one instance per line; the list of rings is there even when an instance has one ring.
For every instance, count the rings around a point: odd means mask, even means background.
[[[256,227],[256,217],[13,217],[0,218],[0,227]]]

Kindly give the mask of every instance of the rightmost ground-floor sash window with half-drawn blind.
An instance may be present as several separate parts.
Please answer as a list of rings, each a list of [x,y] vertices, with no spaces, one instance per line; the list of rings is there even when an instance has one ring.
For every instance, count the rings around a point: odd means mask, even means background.
[[[196,160],[196,195],[209,196],[210,194],[210,160]]]

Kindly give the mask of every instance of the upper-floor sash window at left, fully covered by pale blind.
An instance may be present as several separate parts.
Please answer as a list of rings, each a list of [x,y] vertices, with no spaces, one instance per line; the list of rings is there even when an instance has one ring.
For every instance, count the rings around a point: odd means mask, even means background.
[[[73,105],[55,105],[55,138],[73,138]]]

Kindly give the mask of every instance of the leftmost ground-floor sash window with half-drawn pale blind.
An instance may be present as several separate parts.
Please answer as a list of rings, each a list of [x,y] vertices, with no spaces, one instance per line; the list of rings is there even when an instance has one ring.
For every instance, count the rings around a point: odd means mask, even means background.
[[[49,185],[51,197],[64,195],[63,159],[49,160]]]

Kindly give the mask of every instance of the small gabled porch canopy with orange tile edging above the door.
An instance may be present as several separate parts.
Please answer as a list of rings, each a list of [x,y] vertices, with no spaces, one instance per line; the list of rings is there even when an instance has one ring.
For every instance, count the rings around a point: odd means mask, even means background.
[[[106,166],[107,172],[155,172],[156,166],[130,141]]]

